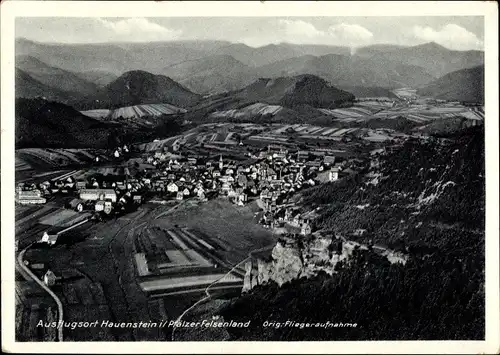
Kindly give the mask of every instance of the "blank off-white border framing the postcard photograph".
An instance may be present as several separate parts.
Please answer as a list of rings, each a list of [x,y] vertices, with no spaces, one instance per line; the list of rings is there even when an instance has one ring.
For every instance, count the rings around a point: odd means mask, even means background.
[[[2,349],[31,353],[499,353],[498,18],[496,2],[116,2],[4,1],[1,4]],[[486,340],[371,342],[14,341],[15,17],[484,16],[486,86]]]

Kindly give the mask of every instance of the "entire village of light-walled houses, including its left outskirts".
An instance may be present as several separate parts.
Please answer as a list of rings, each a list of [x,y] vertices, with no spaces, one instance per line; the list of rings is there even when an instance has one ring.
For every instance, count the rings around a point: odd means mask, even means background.
[[[129,153],[126,146],[114,150],[116,164],[127,161],[126,153]],[[133,164],[146,168],[125,167],[121,175],[95,174],[75,179],[68,173],[38,184],[19,183],[16,202],[45,204],[55,199],[66,209],[103,220],[134,211],[144,202],[166,204],[187,199],[204,202],[222,197],[238,206],[256,201],[263,210],[260,219],[263,226],[276,228],[288,223],[307,235],[311,233],[310,221],[295,212],[289,200],[304,188],[336,181],[350,170],[343,171],[348,162],[345,158],[327,153],[321,149],[291,151],[275,144],[249,154],[244,161],[222,154],[210,158],[178,152],[174,155],[168,151],[143,153],[133,159]],[[288,207],[284,207],[287,203]],[[82,220],[72,218],[75,223]],[[64,229],[53,228],[57,231],[52,235]],[[47,237],[44,241],[48,242]]]

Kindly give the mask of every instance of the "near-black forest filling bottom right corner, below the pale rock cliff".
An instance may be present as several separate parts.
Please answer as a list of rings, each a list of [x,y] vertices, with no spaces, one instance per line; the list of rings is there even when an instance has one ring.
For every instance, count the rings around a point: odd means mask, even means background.
[[[475,255],[477,256],[477,255]],[[337,274],[258,286],[220,309],[224,319],[252,320],[230,340],[484,339],[484,264],[434,255],[393,264],[355,251]],[[356,328],[264,328],[264,321],[357,323]]]

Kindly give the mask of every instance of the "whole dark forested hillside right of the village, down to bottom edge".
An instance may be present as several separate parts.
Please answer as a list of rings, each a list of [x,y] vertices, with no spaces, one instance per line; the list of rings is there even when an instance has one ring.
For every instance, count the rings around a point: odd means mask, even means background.
[[[252,320],[231,340],[484,339],[483,134],[410,140],[357,176],[306,191],[325,234],[402,250],[408,262],[355,250],[333,276],[253,288],[218,312]],[[262,328],[269,319],[358,326]]]

